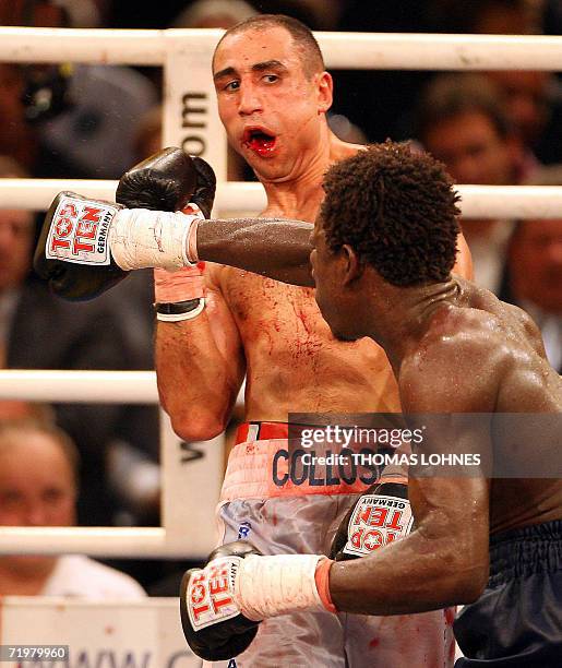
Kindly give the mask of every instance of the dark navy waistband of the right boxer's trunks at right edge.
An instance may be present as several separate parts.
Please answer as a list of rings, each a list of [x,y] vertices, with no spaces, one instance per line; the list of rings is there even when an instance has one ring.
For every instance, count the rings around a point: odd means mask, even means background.
[[[562,520],[490,537],[490,580],[494,587],[515,577],[562,570]]]

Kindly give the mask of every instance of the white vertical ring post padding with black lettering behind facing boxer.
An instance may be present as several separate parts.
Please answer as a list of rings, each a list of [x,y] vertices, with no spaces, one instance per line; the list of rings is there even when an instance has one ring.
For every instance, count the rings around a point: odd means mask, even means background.
[[[227,178],[227,139],[218,117],[212,59],[217,29],[167,31],[164,145],[180,146]],[[160,411],[163,524],[170,549],[203,558],[216,545],[215,508],[223,480],[224,437],[184,443]]]

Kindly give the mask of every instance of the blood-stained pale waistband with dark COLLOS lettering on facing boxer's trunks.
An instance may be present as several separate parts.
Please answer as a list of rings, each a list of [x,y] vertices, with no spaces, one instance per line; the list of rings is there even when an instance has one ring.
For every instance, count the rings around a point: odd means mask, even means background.
[[[276,430],[280,424],[266,425],[275,425],[273,429]],[[263,424],[260,426],[263,427]],[[272,433],[267,430],[266,432]],[[318,450],[309,451],[292,444],[287,438],[249,438],[235,445],[228,457],[222,501],[309,494],[359,494],[379,479],[378,467],[355,463],[350,456],[351,451],[348,451],[348,455],[334,455],[335,460],[328,464],[315,458],[327,451],[320,453]]]

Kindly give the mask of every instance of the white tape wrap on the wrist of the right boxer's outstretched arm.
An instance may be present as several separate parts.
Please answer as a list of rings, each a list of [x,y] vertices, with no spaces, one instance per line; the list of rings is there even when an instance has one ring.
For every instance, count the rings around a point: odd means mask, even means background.
[[[111,255],[124,271],[190,266],[187,241],[191,226],[203,215],[123,208],[109,229]]]

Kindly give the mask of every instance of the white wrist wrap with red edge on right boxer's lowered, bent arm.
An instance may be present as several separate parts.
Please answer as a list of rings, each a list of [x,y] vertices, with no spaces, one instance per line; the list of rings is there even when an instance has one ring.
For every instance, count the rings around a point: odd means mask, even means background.
[[[321,554],[278,554],[242,559],[236,575],[235,598],[253,621],[296,610],[322,610],[315,572]]]

